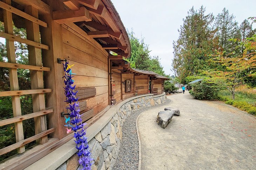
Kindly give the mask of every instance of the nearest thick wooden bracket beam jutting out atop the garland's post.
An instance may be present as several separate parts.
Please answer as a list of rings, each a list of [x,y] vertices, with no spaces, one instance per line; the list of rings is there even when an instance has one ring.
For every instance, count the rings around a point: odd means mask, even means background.
[[[80,7],[79,10],[63,10],[54,11],[53,20],[59,24],[72,23],[79,21],[92,21],[92,16],[85,7]]]

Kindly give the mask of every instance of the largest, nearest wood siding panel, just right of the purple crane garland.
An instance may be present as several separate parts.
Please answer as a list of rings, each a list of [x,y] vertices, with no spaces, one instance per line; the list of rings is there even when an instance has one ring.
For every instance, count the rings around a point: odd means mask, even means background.
[[[75,24],[62,25],[62,39],[64,58],[69,65],[75,64],[72,72],[76,74],[76,90],[91,94],[85,94],[79,101],[80,113],[86,112],[82,116],[86,121],[108,106],[108,53]]]

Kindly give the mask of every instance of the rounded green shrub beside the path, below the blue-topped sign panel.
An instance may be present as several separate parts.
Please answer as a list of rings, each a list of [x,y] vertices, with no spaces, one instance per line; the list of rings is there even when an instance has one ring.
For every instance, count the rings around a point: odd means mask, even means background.
[[[218,92],[222,89],[217,84],[208,81],[207,79],[192,84],[192,90],[189,91],[192,97],[200,100],[218,99]]]

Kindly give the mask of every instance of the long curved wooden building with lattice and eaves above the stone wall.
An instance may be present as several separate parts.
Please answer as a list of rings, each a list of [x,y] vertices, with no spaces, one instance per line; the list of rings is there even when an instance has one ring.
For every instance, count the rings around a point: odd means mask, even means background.
[[[18,157],[2,161],[0,169],[24,169],[73,140],[61,116],[68,112],[62,88],[65,59],[74,64],[80,114],[89,127],[99,124],[111,105],[149,91],[163,93],[166,77],[132,69],[123,60],[130,55],[129,38],[110,0],[1,0],[0,14],[5,28],[0,37],[6,39],[8,57],[0,67],[9,68],[11,87],[0,97],[12,96],[13,105],[13,118],[0,120],[0,126],[14,123],[16,135],[16,143],[0,154],[18,150]],[[13,26],[25,28],[26,38],[14,35]],[[27,44],[29,65],[16,63],[14,42]],[[19,90],[17,69],[30,70],[31,89]],[[32,95],[33,113],[23,115],[20,96],[26,94]],[[22,120],[31,118],[35,135],[24,139]],[[25,150],[35,140],[36,145]]]

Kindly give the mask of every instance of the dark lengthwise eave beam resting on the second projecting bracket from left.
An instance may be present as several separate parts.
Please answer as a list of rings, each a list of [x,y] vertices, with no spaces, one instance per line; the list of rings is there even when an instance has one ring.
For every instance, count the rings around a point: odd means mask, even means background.
[[[100,23],[97,23],[95,21],[88,21],[88,22],[79,23],[79,27],[82,27],[84,25],[88,25],[89,27],[95,28],[99,31],[107,30],[108,34],[110,36],[115,37],[117,39],[120,39],[120,37],[121,37],[121,32],[114,32],[111,28],[108,28],[105,25],[101,25]]]

